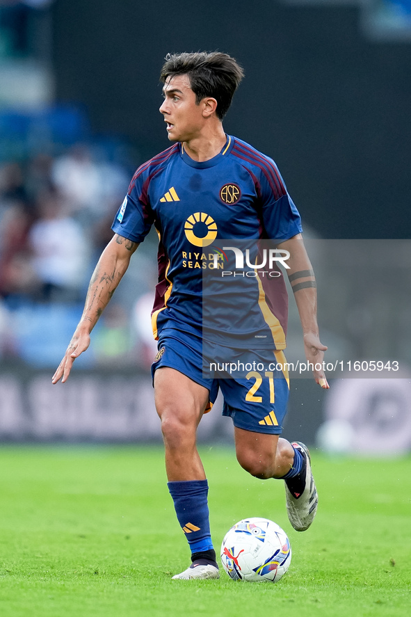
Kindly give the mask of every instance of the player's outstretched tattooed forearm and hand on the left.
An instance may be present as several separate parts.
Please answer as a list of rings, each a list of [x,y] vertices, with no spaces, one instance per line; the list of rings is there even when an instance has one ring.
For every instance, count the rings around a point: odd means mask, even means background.
[[[83,314],[52,383],[67,381],[74,360],[90,345],[90,332],[111,300],[137,247],[138,242],[115,234],[104,249],[88,286]]]

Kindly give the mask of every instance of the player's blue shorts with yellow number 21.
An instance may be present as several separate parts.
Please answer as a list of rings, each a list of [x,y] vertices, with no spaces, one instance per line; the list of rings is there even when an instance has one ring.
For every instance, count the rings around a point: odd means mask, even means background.
[[[204,349],[207,347],[207,352]],[[289,399],[289,376],[284,352],[229,349],[216,344],[204,344],[201,337],[188,332],[163,328],[159,335],[158,352],[152,364],[152,378],[160,367],[170,367],[209,390],[211,410],[218,390],[223,397],[223,415],[234,426],[255,433],[280,435]],[[203,354],[206,353],[204,356]],[[231,368],[217,365],[216,358],[227,358]],[[211,370],[210,370],[211,367]],[[221,370],[227,368],[227,371]],[[208,369],[208,373],[206,371]],[[210,374],[211,377],[205,375]]]

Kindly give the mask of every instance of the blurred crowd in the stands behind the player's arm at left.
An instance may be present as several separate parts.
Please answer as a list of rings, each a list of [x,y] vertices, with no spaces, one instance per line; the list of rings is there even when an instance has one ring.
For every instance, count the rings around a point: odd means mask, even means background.
[[[0,359],[36,367],[59,361],[112,237],[130,173],[84,143],[57,156],[37,152],[0,163]],[[145,292],[154,271],[145,261],[143,255],[143,268],[121,287],[121,302],[113,300],[97,326],[92,352],[82,360],[88,367],[113,358],[150,363],[151,296]]]

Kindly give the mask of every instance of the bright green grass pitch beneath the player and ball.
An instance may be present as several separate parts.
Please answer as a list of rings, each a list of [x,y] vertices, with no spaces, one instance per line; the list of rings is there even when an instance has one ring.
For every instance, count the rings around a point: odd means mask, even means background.
[[[275,520],[293,558],[278,584],[172,581],[189,552],[148,447],[3,447],[1,617],[408,616],[411,458],[312,452],[319,512],[291,529],[278,481],[248,476],[231,448],[203,448],[214,544],[241,518]]]

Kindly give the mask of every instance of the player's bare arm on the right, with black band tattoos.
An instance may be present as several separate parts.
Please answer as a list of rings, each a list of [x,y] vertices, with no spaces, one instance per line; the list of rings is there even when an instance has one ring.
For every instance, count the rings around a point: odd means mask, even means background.
[[[305,357],[307,361],[317,367],[321,364],[321,370],[314,369],[314,379],[321,387],[328,389],[328,381],[323,371],[324,351],[327,347],[320,341],[319,326],[317,323],[317,294],[316,280],[311,262],[305,250],[303,236],[297,234],[288,240],[277,243],[277,248],[288,250],[290,257],[287,259],[287,275],[300,315],[303,326]]]

